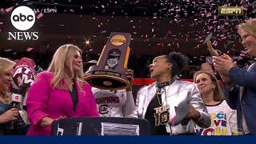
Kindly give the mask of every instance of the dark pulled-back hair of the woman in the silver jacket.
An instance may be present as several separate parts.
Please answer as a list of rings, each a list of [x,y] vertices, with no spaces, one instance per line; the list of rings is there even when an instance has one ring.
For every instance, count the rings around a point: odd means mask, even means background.
[[[173,67],[172,67],[172,75],[173,77],[177,75],[179,72],[184,70],[186,66],[188,66],[188,58],[186,55],[179,53],[179,52],[171,52],[168,55],[166,55],[166,58],[168,62],[170,62]]]

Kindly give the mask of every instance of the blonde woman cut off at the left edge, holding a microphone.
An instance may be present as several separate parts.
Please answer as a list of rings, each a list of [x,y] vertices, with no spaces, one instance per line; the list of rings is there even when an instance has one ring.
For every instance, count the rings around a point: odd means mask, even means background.
[[[18,113],[18,109],[11,103],[10,83],[15,62],[7,58],[0,58],[0,134],[26,134],[26,125]]]

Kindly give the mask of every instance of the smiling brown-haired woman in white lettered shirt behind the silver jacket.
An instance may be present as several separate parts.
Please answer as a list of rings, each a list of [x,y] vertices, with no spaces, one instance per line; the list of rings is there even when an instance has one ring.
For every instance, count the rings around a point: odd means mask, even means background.
[[[226,103],[222,88],[212,71],[200,70],[194,74],[194,82],[202,96],[211,118],[210,127],[204,129],[196,126],[199,135],[233,135],[237,134],[237,114]]]

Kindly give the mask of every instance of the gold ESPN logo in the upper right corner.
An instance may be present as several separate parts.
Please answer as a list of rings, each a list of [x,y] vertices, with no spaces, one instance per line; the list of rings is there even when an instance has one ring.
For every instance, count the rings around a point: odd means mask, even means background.
[[[218,15],[242,15],[242,6],[218,6]]]

